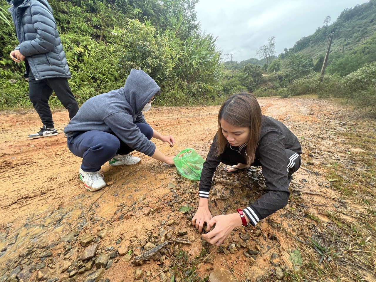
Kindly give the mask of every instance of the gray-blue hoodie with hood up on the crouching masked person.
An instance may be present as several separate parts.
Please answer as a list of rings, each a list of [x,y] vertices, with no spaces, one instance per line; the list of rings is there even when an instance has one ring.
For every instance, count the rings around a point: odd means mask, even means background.
[[[100,130],[115,133],[129,147],[152,156],[155,144],[136,127],[146,123],[141,110],[159,90],[144,71],[131,70],[124,87],[88,99],[70,120],[64,132]]]

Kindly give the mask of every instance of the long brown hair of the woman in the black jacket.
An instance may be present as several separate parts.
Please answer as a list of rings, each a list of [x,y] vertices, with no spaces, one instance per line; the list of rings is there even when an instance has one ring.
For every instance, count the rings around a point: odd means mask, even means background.
[[[250,93],[234,94],[227,98],[218,113],[217,150],[215,155],[220,156],[230,144],[223,136],[221,119],[232,126],[249,127],[249,141],[246,147],[247,165],[255,160],[255,152],[261,132],[261,108],[256,97]]]

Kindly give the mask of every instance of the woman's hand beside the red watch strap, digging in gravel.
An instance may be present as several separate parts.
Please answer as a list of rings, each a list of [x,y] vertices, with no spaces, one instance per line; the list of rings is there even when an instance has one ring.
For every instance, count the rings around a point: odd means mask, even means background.
[[[198,211],[198,210],[197,210]],[[193,220],[192,220],[193,221]],[[240,215],[238,213],[234,214],[222,214],[213,217],[208,222],[209,230],[211,227],[215,227],[209,233],[202,234],[202,237],[208,241],[209,244],[220,246],[226,237],[231,233],[231,231],[242,225]]]

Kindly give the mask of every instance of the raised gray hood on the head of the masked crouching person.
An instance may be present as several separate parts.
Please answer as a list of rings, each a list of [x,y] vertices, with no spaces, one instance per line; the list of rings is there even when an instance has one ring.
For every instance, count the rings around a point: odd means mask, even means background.
[[[139,113],[159,89],[161,88],[148,74],[133,69],[125,81],[124,95],[132,109]]]

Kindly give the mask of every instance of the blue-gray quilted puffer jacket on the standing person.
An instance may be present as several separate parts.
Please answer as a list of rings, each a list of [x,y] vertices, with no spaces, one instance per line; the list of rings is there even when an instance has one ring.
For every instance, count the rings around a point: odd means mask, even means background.
[[[36,80],[71,77],[52,9],[46,0],[7,0],[17,38]]]

